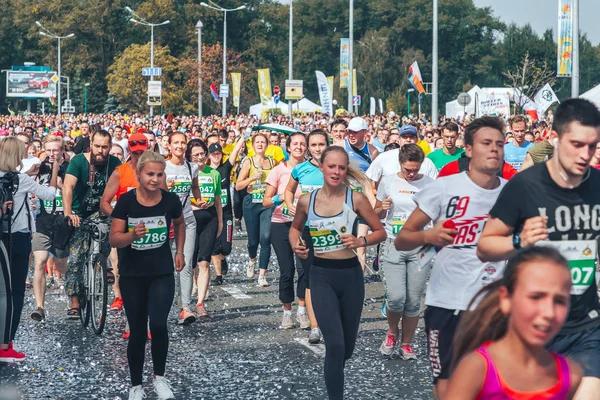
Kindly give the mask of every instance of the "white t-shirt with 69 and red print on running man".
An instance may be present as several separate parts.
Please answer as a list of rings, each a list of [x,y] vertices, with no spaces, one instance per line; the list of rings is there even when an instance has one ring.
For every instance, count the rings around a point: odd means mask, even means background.
[[[425,304],[448,310],[466,310],[481,288],[502,276],[505,263],[482,263],[476,250],[506,180],[486,190],[475,184],[466,172],[436,179],[415,195],[419,208],[436,223],[452,219],[459,231],[454,242],[442,248],[435,259]]]

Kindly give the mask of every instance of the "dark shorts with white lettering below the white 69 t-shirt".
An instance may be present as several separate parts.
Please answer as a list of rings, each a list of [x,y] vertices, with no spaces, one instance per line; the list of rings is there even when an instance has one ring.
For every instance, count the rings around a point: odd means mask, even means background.
[[[427,333],[427,358],[431,364],[433,384],[438,379],[450,378],[452,341],[463,312],[427,306],[425,332]]]

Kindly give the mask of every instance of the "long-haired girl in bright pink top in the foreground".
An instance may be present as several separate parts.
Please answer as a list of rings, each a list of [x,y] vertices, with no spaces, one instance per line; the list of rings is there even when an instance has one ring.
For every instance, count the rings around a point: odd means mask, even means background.
[[[443,400],[572,399],[581,367],[544,348],[567,317],[570,290],[569,264],[554,248],[531,247],[510,259],[460,322]]]

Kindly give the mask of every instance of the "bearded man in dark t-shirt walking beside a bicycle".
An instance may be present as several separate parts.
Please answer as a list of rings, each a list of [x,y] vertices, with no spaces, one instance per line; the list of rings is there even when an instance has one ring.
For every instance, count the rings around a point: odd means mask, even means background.
[[[75,227],[69,240],[69,260],[65,279],[65,292],[71,299],[67,316],[79,319],[79,299],[83,286],[82,268],[85,266],[88,233],[77,229],[81,219],[94,217],[100,210],[100,198],[106,182],[121,164],[118,158],[109,155],[112,138],[105,130],[94,132],[91,152],[78,154],[71,160],[63,184],[63,207],[65,216]],[[107,249],[107,253],[110,248]]]

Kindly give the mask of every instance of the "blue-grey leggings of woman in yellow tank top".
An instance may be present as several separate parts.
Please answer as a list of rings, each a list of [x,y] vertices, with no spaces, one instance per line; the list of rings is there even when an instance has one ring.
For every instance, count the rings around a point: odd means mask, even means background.
[[[271,257],[271,215],[273,208],[265,208],[262,203],[252,203],[252,196],[244,197],[244,221],[248,232],[248,255],[256,258],[260,244],[258,267],[267,269]]]

